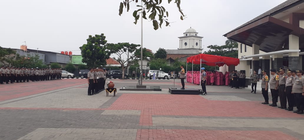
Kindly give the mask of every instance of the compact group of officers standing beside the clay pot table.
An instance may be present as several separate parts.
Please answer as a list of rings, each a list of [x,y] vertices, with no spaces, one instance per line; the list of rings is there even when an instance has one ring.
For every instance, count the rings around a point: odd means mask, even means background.
[[[90,68],[88,72],[88,95],[98,94],[105,90],[105,69]]]

